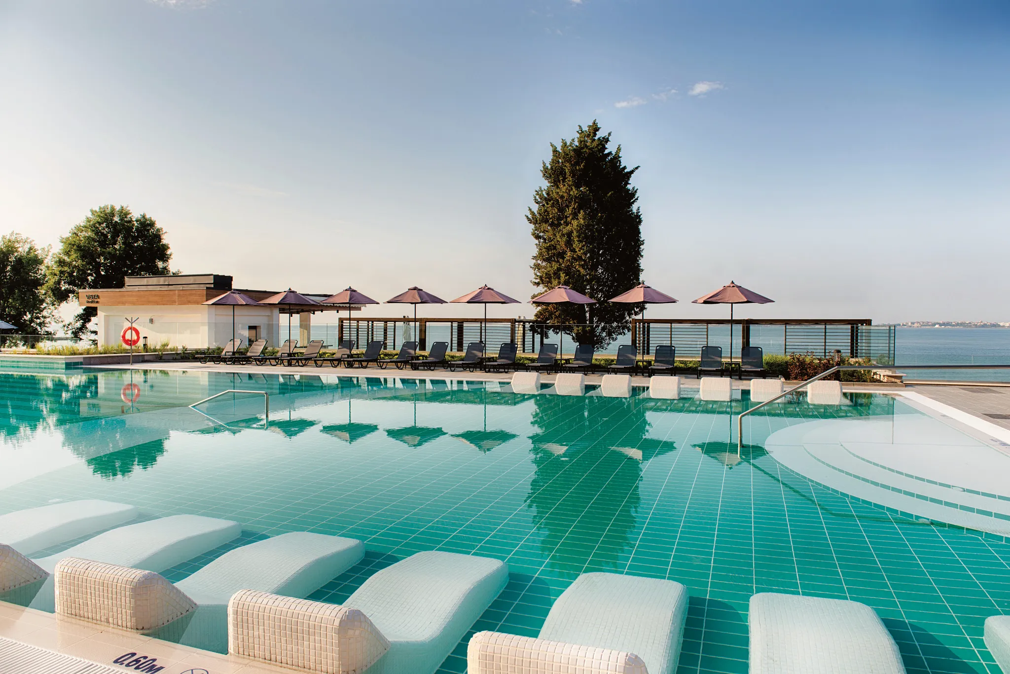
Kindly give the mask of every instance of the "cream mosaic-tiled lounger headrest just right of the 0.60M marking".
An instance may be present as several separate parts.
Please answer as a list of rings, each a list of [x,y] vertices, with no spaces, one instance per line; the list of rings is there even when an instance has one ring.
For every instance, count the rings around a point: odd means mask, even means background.
[[[357,608],[256,590],[239,590],[228,601],[232,655],[342,674],[364,672],[388,650],[389,641]]]

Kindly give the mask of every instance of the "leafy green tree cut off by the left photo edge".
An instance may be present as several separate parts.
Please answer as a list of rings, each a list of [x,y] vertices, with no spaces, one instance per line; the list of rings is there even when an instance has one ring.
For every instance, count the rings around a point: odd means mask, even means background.
[[[27,236],[0,236],[0,320],[25,334],[43,333],[53,320],[53,302],[42,291],[49,249]]]

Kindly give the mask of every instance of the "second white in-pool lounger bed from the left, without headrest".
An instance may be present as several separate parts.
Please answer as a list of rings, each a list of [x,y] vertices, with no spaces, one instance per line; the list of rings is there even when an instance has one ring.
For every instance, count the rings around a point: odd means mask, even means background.
[[[68,557],[160,573],[238,538],[241,528],[241,524],[228,519],[171,515],[99,534],[62,553],[32,562],[49,574],[60,560]],[[31,607],[54,609],[52,575],[35,595]]]

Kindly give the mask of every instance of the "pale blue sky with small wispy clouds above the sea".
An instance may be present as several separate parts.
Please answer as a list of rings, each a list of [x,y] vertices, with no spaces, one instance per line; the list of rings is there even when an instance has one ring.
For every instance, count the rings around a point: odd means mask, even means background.
[[[741,316],[1010,320],[1006,2],[0,0],[0,229],[43,245],[122,203],[242,287],[525,298],[540,161],[595,118],[654,317],[732,279],[777,300]]]

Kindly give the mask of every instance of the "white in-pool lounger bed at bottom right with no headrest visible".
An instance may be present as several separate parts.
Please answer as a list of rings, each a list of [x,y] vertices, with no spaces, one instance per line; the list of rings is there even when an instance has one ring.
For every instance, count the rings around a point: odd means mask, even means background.
[[[904,674],[898,646],[855,601],[762,592],[750,597],[750,674]]]

